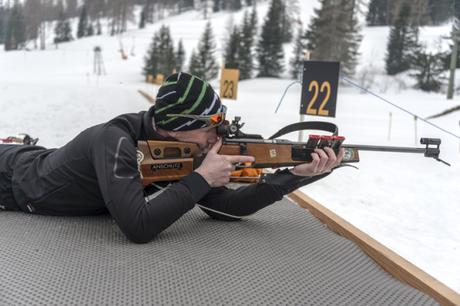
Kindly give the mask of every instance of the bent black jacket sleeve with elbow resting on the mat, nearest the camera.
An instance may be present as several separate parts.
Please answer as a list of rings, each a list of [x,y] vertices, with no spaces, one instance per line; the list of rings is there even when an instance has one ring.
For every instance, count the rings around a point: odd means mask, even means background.
[[[136,144],[115,127],[96,138],[92,159],[107,209],[122,232],[136,243],[151,241],[210,190],[207,182],[193,172],[147,201]]]

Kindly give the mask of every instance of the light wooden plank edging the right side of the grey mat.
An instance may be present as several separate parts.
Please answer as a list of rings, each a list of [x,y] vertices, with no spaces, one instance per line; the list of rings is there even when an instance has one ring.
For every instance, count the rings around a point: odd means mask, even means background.
[[[424,292],[441,305],[460,305],[460,295],[454,290],[417,268],[312,198],[298,190],[289,194],[289,198],[299,206],[308,209],[331,230],[356,243],[377,264],[399,281]]]

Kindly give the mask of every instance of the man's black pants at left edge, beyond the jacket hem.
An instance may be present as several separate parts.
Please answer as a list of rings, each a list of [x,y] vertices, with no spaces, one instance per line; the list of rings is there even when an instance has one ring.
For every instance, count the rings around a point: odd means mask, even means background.
[[[17,145],[0,144],[0,210],[20,210],[11,188]]]

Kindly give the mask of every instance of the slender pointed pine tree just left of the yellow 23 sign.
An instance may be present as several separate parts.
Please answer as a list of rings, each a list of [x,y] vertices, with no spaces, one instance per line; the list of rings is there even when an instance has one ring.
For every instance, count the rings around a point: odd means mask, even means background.
[[[192,52],[190,60],[190,73],[212,80],[217,77],[219,66],[215,59],[216,43],[212,33],[211,23],[206,24],[203,35],[198,43],[198,48]]]

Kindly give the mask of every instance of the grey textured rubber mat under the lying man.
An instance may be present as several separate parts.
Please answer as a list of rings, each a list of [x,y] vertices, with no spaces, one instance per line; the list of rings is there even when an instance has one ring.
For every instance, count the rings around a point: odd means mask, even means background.
[[[108,216],[0,212],[0,305],[435,305],[288,200],[194,209],[144,245]]]

